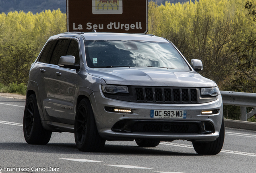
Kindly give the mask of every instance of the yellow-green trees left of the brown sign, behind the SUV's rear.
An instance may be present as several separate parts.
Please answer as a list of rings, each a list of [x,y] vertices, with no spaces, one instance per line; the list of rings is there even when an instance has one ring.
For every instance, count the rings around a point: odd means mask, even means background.
[[[0,83],[27,84],[31,63],[47,39],[66,32],[66,14],[60,10],[0,14]]]

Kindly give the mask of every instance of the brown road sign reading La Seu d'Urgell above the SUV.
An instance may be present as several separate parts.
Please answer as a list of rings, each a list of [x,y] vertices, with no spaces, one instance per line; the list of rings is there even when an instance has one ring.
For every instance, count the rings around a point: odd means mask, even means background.
[[[147,33],[148,0],[67,0],[67,31]]]

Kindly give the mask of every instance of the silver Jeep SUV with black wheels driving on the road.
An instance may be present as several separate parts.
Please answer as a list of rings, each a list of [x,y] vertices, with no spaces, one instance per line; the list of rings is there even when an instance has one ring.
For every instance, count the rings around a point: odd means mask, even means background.
[[[146,34],[67,32],[49,38],[31,65],[23,130],[29,144],[74,133],[80,151],[108,141],[156,147],[187,140],[213,155],[224,142],[217,84],[167,39]]]

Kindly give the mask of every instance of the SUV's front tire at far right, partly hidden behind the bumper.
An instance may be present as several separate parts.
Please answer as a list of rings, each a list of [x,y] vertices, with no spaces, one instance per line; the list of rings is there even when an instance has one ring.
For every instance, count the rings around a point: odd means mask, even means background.
[[[200,155],[216,155],[221,152],[225,138],[225,125],[222,119],[219,137],[209,143],[193,143],[194,150]]]

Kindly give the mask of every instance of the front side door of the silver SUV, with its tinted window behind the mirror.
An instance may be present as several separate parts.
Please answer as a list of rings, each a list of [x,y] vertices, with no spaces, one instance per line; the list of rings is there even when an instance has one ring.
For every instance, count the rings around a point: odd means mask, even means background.
[[[65,55],[75,56],[75,63],[80,65],[78,40],[75,38],[70,39]],[[69,68],[56,68],[54,81],[54,117],[60,120],[61,123],[74,125],[74,96],[77,72],[78,70]]]

